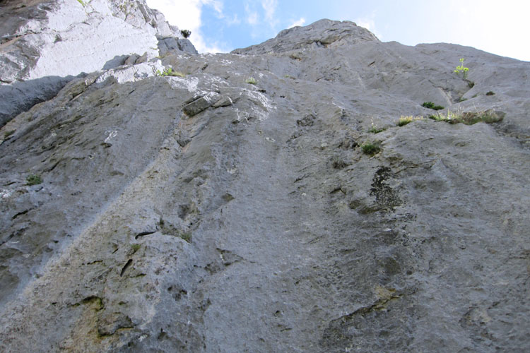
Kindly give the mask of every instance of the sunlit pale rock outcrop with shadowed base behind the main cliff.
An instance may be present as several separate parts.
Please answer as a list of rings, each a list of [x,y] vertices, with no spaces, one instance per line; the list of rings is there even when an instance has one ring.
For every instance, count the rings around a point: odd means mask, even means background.
[[[135,53],[151,59],[158,40],[182,40],[143,0],[3,1],[0,33],[0,126],[73,76],[117,67]]]

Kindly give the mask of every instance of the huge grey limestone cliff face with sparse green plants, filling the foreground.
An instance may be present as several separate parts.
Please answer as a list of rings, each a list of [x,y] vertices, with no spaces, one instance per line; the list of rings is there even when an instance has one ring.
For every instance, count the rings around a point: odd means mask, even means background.
[[[164,50],[1,128],[1,352],[529,351],[529,63]]]

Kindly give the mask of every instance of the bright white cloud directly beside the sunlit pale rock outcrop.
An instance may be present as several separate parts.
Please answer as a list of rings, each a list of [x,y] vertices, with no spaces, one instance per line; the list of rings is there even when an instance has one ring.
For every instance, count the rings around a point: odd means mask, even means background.
[[[211,6],[218,18],[224,18],[223,1],[220,0],[146,0],[147,5],[161,11],[167,22],[181,30],[192,31],[192,43],[199,53],[226,52],[218,43],[206,44],[201,33],[203,6]]]

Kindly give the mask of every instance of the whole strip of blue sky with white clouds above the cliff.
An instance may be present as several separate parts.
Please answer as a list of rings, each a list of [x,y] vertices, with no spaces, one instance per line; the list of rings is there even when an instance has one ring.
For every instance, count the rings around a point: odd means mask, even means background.
[[[447,42],[530,61],[526,0],[147,0],[199,52],[259,44],[293,25],[321,18],[353,20],[383,42]]]

